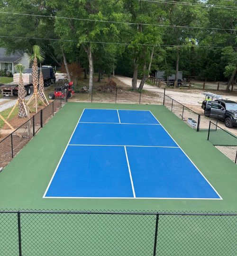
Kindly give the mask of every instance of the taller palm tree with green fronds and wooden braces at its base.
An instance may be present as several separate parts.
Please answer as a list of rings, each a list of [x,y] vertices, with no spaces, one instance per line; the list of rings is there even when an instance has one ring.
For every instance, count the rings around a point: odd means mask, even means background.
[[[35,108],[36,108],[36,113],[37,113],[37,108],[38,108],[38,100],[41,100],[39,95],[38,95],[38,61],[42,62],[45,59],[45,53],[41,49],[40,46],[33,46],[33,54],[29,55],[29,60],[33,61],[32,65],[32,78],[33,78],[33,88],[34,88],[34,93],[32,97],[29,99],[27,102],[27,105],[30,104],[32,100],[35,100]]]

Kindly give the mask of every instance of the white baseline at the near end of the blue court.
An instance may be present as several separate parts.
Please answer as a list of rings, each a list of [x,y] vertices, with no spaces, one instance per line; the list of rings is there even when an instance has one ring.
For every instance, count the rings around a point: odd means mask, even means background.
[[[73,197],[73,196],[47,196],[45,198],[60,198],[60,199],[182,199],[182,200],[222,200],[220,198],[183,198],[183,197]]]

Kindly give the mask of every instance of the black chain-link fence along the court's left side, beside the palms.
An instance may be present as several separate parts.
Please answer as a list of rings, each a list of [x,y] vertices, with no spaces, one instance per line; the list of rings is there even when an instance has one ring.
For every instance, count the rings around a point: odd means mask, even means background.
[[[52,101],[31,119],[18,127],[14,132],[0,141],[0,167],[8,165],[12,158],[26,146],[32,137],[54,116],[64,105],[66,99]]]

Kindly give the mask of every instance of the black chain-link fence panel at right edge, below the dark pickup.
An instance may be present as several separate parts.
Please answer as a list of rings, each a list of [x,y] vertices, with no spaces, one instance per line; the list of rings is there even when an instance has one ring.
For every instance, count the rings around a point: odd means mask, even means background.
[[[210,121],[208,140],[237,164],[237,137]]]

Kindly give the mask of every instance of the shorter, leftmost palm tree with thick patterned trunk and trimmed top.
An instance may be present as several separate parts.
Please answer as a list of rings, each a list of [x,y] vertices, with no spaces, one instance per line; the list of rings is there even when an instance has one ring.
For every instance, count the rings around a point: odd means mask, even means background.
[[[22,79],[22,73],[26,69],[25,66],[22,64],[17,64],[15,66],[17,72],[19,73],[19,84],[18,84],[18,117],[19,118],[26,118],[27,117],[27,108],[25,103],[25,96],[26,96],[26,90],[24,87],[23,79]]]

